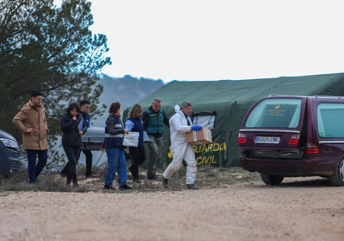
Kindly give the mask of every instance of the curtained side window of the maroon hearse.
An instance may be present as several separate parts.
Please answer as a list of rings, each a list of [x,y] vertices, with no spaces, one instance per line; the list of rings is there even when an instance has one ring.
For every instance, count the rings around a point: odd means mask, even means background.
[[[344,138],[344,104],[323,103],[316,109],[318,133],[322,138]]]

